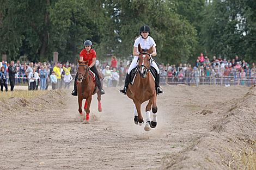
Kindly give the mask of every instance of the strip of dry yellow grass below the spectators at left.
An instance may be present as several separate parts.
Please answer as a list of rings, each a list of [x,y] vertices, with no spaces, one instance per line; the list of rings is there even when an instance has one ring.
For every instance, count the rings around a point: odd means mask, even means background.
[[[48,92],[47,90],[35,90],[35,91],[15,90],[15,91],[8,91],[8,92],[0,92],[0,100],[8,100],[11,97],[21,97],[26,99],[32,99],[32,98],[44,95],[47,92]]]

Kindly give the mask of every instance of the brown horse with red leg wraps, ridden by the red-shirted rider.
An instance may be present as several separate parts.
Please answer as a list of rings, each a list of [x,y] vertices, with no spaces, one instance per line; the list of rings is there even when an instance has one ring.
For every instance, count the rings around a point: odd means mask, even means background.
[[[78,59],[77,59],[78,60]],[[97,100],[98,100],[98,111],[101,112],[101,95],[99,93],[99,88],[95,85],[93,81],[92,73],[89,73],[87,61],[80,61],[78,60],[78,77],[77,77],[77,96],[78,96],[78,111],[80,113],[81,121],[86,119],[86,122],[89,123],[89,114],[90,114],[90,103],[92,102],[92,96],[97,93]],[[102,77],[100,75],[101,81]],[[86,111],[86,116],[83,114],[82,110],[82,102],[83,99],[86,99],[86,103],[84,104],[84,111]]]

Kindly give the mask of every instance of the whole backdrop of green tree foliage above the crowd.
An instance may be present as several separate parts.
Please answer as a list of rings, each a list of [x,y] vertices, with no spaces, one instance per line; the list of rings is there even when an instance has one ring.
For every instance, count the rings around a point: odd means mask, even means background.
[[[4,0],[0,1],[0,49],[16,60],[73,61],[92,40],[97,58],[132,59],[139,28],[156,41],[157,62],[190,62],[199,53],[255,59],[253,0]],[[206,52],[206,53],[205,53]]]

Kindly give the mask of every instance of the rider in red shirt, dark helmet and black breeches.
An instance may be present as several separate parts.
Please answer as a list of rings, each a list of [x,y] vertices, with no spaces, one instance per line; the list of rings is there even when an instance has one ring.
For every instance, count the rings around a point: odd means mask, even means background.
[[[89,60],[89,62],[88,62],[89,70],[93,71],[95,73],[95,75],[97,76],[97,79],[99,80],[98,87],[99,87],[100,95],[104,95],[105,92],[101,87],[100,75],[99,75],[99,72],[97,71],[97,68],[95,66],[96,52],[92,49],[93,48],[93,43],[90,40],[86,40],[86,41],[84,41],[83,45],[84,45],[84,49],[80,53],[80,61]],[[77,77],[78,77],[78,72],[76,73],[76,77],[75,77],[74,90],[71,93],[71,95],[73,95],[73,96],[77,96],[77,90],[76,90]]]

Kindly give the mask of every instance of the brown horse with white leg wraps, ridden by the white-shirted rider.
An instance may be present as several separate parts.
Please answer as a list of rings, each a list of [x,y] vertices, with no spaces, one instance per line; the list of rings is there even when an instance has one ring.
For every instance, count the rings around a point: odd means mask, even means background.
[[[135,80],[133,85],[129,84],[129,89],[127,90],[127,96],[133,100],[135,103],[135,124],[142,125],[144,123],[143,117],[141,114],[141,104],[149,100],[149,103],[146,107],[146,125],[144,130],[149,131],[150,127],[156,127],[156,117],[157,117],[157,106],[156,106],[156,90],[155,90],[155,81],[153,75],[149,72],[150,62],[152,62],[150,53],[152,52],[151,47],[147,52],[143,52],[141,45],[138,45],[138,68]],[[153,121],[150,118],[151,106],[153,111]],[[137,112],[137,113],[136,113]]]

